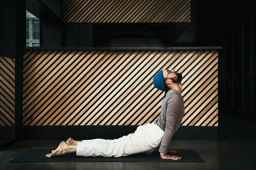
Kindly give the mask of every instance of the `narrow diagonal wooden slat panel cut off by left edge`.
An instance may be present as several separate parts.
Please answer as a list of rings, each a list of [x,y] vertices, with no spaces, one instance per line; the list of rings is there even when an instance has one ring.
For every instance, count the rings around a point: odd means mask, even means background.
[[[14,125],[15,59],[0,56],[0,126]]]

